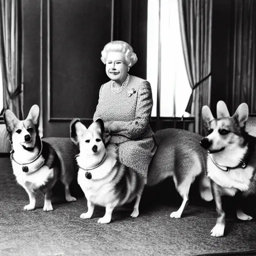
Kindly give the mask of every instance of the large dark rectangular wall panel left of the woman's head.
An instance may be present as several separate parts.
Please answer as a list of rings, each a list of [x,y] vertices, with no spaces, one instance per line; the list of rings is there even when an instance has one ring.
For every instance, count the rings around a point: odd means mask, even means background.
[[[92,118],[107,78],[100,52],[111,40],[111,0],[50,5],[50,120]]]

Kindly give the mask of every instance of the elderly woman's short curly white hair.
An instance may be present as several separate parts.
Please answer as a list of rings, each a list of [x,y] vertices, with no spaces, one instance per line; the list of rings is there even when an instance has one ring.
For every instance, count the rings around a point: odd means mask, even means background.
[[[126,64],[132,67],[137,62],[137,55],[133,52],[132,47],[124,41],[110,41],[101,51],[101,61],[105,64],[109,51],[118,51],[124,53]]]

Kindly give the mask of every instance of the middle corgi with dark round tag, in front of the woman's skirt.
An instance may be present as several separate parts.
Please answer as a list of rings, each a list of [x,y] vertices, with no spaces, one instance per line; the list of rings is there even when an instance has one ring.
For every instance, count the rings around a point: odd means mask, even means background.
[[[76,156],[79,167],[77,182],[84,192],[88,207],[80,217],[91,218],[94,206],[100,205],[105,207],[105,215],[97,222],[109,223],[115,206],[135,198],[131,216],[137,217],[146,179],[119,162],[115,147],[107,147],[106,150],[102,140],[103,131],[101,119],[93,122],[88,129],[79,119],[73,119],[70,124],[71,140],[80,151]]]

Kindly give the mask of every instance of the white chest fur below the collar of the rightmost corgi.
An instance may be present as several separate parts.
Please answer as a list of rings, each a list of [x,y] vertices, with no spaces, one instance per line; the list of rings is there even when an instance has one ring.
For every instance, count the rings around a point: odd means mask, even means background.
[[[235,168],[224,171],[217,167],[209,156],[207,159],[208,177],[219,186],[225,188],[229,195],[234,195],[237,189],[246,191],[249,188],[253,170],[254,168],[248,165],[246,168]]]

